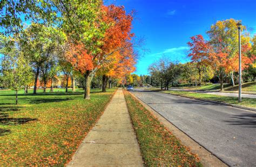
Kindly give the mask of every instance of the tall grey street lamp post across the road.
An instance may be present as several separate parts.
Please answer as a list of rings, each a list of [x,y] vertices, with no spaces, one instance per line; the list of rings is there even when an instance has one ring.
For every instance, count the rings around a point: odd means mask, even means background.
[[[241,68],[241,23],[237,24],[238,28],[238,46],[239,46],[239,95],[238,95],[238,102],[242,101],[242,68]]]

